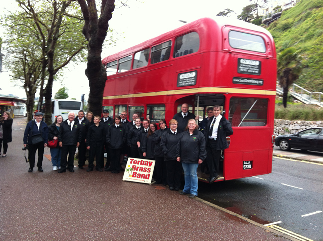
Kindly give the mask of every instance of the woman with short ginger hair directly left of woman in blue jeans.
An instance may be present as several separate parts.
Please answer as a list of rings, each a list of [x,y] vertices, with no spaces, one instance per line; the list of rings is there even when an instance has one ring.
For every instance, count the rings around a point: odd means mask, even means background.
[[[180,175],[182,173],[182,166],[176,160],[177,143],[180,137],[180,132],[177,129],[178,122],[175,119],[169,121],[170,129],[168,129],[161,136],[162,152],[165,155],[167,170],[167,183],[170,190],[179,190]]]

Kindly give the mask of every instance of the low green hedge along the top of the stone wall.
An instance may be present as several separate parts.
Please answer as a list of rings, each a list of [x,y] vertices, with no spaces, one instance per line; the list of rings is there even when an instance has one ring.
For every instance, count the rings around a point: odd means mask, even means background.
[[[311,105],[288,105],[287,108],[276,105],[275,119],[319,121],[323,120],[323,109]]]

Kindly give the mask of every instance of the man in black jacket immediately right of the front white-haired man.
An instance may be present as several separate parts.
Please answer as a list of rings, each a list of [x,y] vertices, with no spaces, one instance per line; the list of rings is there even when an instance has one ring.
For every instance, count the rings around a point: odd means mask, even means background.
[[[85,116],[84,111],[79,110],[78,117],[76,117],[74,119],[75,122],[79,122],[81,134],[82,134],[82,139],[81,139],[80,145],[78,147],[78,150],[79,150],[78,166],[80,169],[83,169],[83,165],[85,165],[85,161],[86,161],[86,143],[85,143],[85,141],[86,141],[87,131],[90,126],[90,122],[84,116]]]

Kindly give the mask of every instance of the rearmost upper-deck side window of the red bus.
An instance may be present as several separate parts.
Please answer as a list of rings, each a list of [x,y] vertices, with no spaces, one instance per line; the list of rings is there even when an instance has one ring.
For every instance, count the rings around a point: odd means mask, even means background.
[[[200,37],[197,32],[191,32],[176,38],[174,46],[174,58],[198,51]]]

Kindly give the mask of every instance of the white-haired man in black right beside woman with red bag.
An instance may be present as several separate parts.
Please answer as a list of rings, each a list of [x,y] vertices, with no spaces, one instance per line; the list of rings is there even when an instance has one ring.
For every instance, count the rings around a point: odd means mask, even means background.
[[[62,148],[61,169],[58,173],[66,171],[66,164],[68,170],[74,172],[74,154],[82,138],[80,124],[74,118],[75,113],[71,111],[68,114],[68,119],[62,122],[58,130],[58,144]],[[67,154],[69,154],[68,160]]]

